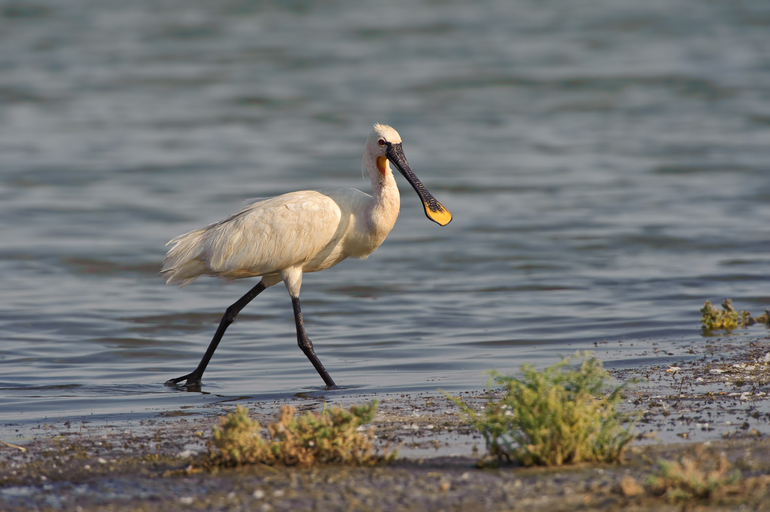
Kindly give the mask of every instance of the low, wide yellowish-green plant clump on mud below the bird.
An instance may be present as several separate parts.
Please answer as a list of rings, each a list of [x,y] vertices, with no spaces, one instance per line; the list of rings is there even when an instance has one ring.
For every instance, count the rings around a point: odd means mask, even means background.
[[[220,419],[213,428],[209,443],[208,465],[233,467],[264,463],[286,466],[313,466],[318,463],[354,465],[390,462],[396,452],[383,456],[374,453],[374,427],[370,423],[377,412],[377,401],[350,410],[342,407],[323,408],[321,413],[308,412],[296,417],[296,409],[281,408],[280,417],[267,426],[268,437],[262,436],[259,422],[249,418],[249,410],[238,406],[235,412]]]

